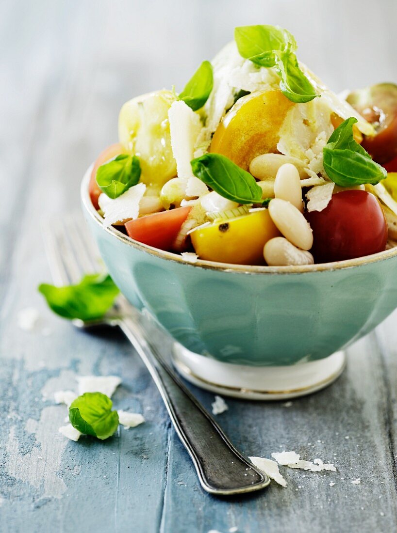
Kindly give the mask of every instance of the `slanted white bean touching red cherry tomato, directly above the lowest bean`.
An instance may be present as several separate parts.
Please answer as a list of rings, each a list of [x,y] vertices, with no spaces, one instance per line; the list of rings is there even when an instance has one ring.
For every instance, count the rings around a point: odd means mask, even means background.
[[[313,232],[303,214],[287,200],[273,198],[269,203],[269,215],[277,229],[292,244],[302,250],[313,246]]]

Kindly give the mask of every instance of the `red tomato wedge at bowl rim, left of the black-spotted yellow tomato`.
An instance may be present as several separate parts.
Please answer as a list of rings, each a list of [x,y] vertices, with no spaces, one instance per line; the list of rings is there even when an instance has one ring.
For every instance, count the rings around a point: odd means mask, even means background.
[[[159,248],[172,250],[181,225],[187,219],[191,207],[178,207],[170,211],[142,216],[137,220],[126,222],[125,229],[131,239],[140,243]]]

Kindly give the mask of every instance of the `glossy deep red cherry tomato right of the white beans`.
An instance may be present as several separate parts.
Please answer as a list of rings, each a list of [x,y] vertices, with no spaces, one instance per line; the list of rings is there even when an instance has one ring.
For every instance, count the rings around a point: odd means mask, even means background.
[[[354,259],[386,248],[385,213],[367,191],[337,192],[323,211],[306,213],[306,219],[313,230],[316,263]]]

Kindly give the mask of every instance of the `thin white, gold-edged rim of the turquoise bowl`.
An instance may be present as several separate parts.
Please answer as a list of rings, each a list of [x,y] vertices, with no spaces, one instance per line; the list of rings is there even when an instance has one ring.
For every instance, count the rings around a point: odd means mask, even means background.
[[[203,259],[197,259],[194,263],[192,261],[186,260],[182,255],[165,252],[153,246],[148,246],[147,244],[139,243],[139,241],[131,239],[127,235],[124,235],[121,231],[113,228],[113,226],[105,227],[103,224],[102,217],[94,208],[91,202],[89,195],[89,182],[92,172],[93,164],[89,166],[86,170],[83,180],[81,182],[81,200],[83,207],[103,231],[107,232],[112,237],[115,237],[122,243],[132,248],[135,248],[141,252],[145,252],[149,255],[159,257],[166,261],[173,261],[177,263],[182,263],[187,266],[192,266],[195,268],[203,268],[209,270],[218,270],[223,272],[235,272],[235,273],[245,273],[245,274],[298,274],[298,273],[309,273],[309,272],[332,272],[335,270],[343,270],[348,268],[354,268],[356,266],[363,266],[370,263],[377,263],[380,261],[385,261],[391,257],[397,255],[397,246],[384,250],[383,252],[378,252],[372,255],[366,255],[363,257],[356,257],[355,259],[348,259],[344,261],[334,261],[330,263],[319,263],[311,265],[290,265],[290,266],[264,266],[264,265],[241,265],[233,263],[218,263],[216,261],[205,261]]]

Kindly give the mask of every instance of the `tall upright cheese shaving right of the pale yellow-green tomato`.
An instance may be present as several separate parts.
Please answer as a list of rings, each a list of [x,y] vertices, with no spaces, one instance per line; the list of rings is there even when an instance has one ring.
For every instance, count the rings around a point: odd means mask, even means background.
[[[190,161],[194,158],[194,148],[202,130],[200,116],[183,100],[173,102],[168,111],[172,153],[177,161],[178,177],[193,176]]]

